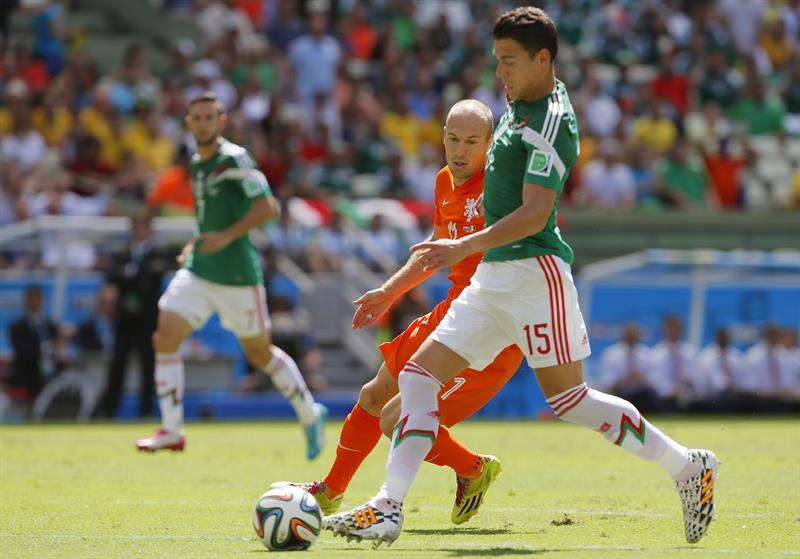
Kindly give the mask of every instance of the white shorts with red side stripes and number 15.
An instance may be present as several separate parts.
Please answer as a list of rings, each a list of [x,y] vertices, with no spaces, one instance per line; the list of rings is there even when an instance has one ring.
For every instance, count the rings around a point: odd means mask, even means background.
[[[478,370],[512,343],[533,369],[591,353],[570,267],[552,255],[481,262],[430,339]]]

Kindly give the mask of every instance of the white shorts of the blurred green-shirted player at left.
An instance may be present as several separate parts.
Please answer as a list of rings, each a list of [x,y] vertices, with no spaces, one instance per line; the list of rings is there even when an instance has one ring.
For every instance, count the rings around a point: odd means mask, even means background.
[[[255,338],[270,329],[263,285],[223,285],[180,269],[158,301],[158,308],[182,316],[197,330],[216,312],[237,338]]]

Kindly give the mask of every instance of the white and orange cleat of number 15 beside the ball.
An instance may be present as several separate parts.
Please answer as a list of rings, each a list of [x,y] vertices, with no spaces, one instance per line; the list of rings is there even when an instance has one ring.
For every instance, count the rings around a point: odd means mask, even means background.
[[[374,540],[375,547],[392,542],[403,528],[403,505],[391,499],[372,499],[351,511],[326,516],[322,528],[347,541]]]

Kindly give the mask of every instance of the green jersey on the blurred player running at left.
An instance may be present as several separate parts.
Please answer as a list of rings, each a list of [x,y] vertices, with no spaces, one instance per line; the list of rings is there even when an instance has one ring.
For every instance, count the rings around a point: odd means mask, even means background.
[[[199,233],[222,231],[239,221],[256,198],[272,196],[264,174],[247,150],[220,139],[217,152],[205,161],[195,154],[189,164]],[[204,280],[224,285],[264,283],[261,262],[245,234],[219,252],[201,254],[195,247],[186,268]]]

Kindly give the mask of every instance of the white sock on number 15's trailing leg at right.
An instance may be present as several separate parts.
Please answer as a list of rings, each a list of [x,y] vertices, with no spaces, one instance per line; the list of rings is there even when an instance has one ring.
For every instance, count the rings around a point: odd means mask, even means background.
[[[650,424],[630,402],[581,383],[547,403],[560,419],[597,431],[609,442],[655,462],[673,479],[691,477],[686,475],[689,450]]]

